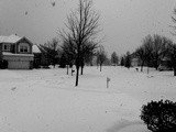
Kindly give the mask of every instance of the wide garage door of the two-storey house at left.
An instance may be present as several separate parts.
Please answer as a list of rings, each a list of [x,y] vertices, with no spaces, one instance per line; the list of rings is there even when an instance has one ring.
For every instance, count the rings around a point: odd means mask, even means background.
[[[30,62],[29,61],[9,61],[8,68],[10,69],[29,69],[30,68]]]

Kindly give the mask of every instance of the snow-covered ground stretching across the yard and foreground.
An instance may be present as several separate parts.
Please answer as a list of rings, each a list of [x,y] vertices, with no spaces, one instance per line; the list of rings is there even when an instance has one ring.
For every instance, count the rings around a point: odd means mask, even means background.
[[[85,67],[75,87],[75,75],[66,69],[6,69],[0,70],[0,131],[150,132],[141,107],[175,97],[173,72]]]

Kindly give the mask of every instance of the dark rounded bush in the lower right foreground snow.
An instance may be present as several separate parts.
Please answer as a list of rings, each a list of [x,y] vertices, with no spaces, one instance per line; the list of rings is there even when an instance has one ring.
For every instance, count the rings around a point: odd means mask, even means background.
[[[176,132],[176,102],[151,101],[142,107],[140,117],[152,132]]]

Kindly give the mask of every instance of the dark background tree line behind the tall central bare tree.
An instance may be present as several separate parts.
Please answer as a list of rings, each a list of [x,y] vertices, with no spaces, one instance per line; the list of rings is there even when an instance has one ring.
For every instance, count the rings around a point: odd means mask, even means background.
[[[65,40],[63,42],[58,41],[58,38],[54,37],[51,41],[47,41],[44,44],[38,45],[42,53],[45,55],[45,59],[47,59],[46,64],[43,66],[59,65],[61,68],[66,68],[73,65],[76,65],[77,50],[76,45],[73,44],[73,41]],[[102,66],[118,66],[120,65],[120,58],[117,52],[113,52],[110,58],[107,55],[105,47],[98,43],[89,42],[82,45],[80,57],[79,57],[79,66],[80,66],[80,75],[84,74],[85,65],[97,65],[102,70]]]

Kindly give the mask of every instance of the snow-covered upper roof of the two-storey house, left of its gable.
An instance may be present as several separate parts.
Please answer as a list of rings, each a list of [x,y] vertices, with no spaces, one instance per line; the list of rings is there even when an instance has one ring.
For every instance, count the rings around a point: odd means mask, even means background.
[[[16,43],[20,41],[22,37],[11,34],[10,36],[0,36],[0,43]]]

